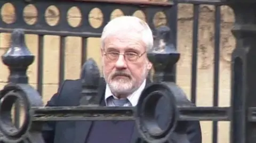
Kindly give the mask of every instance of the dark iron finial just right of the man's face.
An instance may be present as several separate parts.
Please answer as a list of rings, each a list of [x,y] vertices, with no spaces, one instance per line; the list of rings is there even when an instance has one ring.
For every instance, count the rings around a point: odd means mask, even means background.
[[[153,64],[155,74],[153,81],[174,81],[173,66],[178,62],[180,54],[176,51],[171,29],[161,26],[156,29],[154,47],[148,51],[149,61]]]

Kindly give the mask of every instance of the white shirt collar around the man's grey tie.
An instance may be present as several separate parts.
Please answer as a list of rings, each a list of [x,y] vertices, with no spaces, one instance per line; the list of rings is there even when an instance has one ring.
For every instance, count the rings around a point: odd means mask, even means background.
[[[127,99],[129,100],[129,102],[132,104],[132,106],[136,106],[139,98],[140,98],[140,94],[143,91],[143,89],[146,86],[146,79],[143,81],[143,83],[141,84],[141,86],[135,90],[131,95],[127,96]],[[106,85],[106,90],[105,90],[105,103],[107,105],[107,98],[113,96],[108,84]],[[114,98],[117,99],[117,97],[113,96]]]

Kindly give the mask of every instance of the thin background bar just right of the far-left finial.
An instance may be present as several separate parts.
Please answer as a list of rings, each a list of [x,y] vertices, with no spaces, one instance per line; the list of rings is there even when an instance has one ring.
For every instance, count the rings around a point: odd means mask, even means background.
[[[38,65],[37,65],[37,91],[41,96],[43,92],[43,64],[44,64],[44,36],[38,35]]]

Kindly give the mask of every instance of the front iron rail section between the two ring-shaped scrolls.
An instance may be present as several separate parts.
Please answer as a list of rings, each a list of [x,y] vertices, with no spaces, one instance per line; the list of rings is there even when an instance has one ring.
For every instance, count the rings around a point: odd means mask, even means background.
[[[133,107],[33,107],[33,121],[134,120]]]

